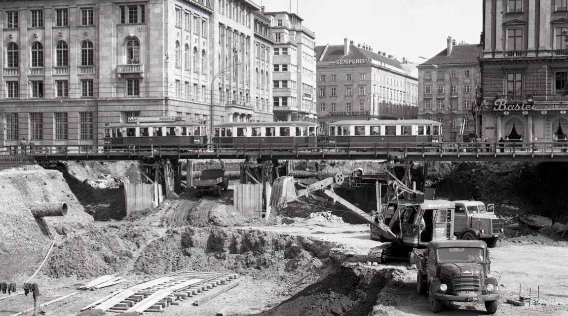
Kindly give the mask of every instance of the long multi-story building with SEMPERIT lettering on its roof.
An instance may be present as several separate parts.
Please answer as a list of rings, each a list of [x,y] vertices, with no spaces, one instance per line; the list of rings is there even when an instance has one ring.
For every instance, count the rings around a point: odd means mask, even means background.
[[[363,44],[315,48],[318,83],[318,122],[344,119],[416,118],[418,79],[415,64],[400,62]]]

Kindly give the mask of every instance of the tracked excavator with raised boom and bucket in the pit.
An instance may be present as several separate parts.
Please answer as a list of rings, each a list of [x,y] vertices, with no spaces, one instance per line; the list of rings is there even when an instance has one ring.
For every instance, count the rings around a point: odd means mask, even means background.
[[[369,257],[378,263],[385,260],[409,260],[413,248],[425,248],[432,240],[454,239],[454,202],[443,199],[425,199],[424,193],[410,189],[395,174],[375,177],[377,211],[366,213],[337,195],[333,188],[344,184],[341,173],[311,185],[301,185],[294,177],[283,176],[274,180],[270,205],[279,210],[292,201],[324,201],[339,203],[371,227],[371,239],[381,242],[371,248]],[[361,185],[362,171],[349,178],[351,184]],[[355,180],[355,181],[353,181]],[[369,178],[366,178],[367,182]],[[296,188],[299,185],[299,189]],[[383,188],[386,188],[383,195]],[[383,202],[385,201],[385,202]]]

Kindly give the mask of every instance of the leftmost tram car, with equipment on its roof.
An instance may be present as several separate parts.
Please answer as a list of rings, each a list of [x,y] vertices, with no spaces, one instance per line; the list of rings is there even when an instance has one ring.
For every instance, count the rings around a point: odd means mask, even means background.
[[[137,117],[105,126],[105,144],[189,145],[206,143],[205,125],[173,117]]]

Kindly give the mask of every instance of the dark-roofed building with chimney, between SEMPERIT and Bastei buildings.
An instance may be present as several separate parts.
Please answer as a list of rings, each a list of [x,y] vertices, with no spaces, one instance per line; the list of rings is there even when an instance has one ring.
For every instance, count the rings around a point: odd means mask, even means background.
[[[448,38],[448,47],[417,66],[418,117],[444,123],[444,141],[461,142],[475,138],[475,117],[481,86],[479,44],[458,44]]]

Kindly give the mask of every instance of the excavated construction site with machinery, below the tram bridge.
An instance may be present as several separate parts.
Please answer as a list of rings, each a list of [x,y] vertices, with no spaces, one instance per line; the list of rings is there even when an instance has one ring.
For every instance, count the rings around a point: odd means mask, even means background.
[[[563,163],[2,163],[0,316],[568,315]],[[419,294],[469,239],[479,300]]]

